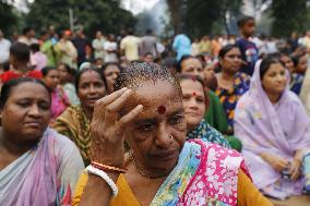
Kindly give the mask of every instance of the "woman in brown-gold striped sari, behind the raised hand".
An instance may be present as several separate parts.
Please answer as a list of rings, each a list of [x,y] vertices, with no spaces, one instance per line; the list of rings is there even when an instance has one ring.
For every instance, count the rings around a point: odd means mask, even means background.
[[[106,81],[99,70],[85,69],[75,77],[81,105],[69,107],[57,118],[53,129],[71,138],[79,147],[85,165],[90,163],[91,130],[95,102],[106,94]]]

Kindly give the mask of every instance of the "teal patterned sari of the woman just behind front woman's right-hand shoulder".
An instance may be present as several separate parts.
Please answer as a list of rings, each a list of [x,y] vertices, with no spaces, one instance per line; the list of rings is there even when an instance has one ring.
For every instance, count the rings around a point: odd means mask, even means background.
[[[187,134],[188,140],[202,138],[206,142],[218,144],[226,148],[231,148],[226,138],[214,128],[208,125],[203,119],[196,128]]]

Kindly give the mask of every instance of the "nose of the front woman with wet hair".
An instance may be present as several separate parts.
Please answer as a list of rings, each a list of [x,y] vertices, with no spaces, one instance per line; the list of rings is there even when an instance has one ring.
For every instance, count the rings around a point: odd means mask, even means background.
[[[156,132],[155,145],[160,148],[168,148],[174,142],[174,137],[165,122],[159,123],[158,130]]]

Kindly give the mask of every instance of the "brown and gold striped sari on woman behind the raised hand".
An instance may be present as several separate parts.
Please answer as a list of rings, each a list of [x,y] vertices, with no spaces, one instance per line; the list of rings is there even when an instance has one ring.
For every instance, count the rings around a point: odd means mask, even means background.
[[[87,119],[81,106],[69,107],[57,118],[53,129],[71,138],[78,146],[85,166],[90,165],[91,120]]]

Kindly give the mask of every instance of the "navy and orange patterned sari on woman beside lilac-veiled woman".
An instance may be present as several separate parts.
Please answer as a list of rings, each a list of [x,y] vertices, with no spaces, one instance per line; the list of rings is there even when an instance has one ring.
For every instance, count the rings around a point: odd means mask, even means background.
[[[237,73],[231,89],[217,87],[215,90],[225,110],[228,120],[228,131],[230,132],[234,132],[234,117],[237,102],[249,87],[250,76],[246,73]]]

